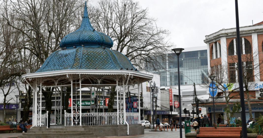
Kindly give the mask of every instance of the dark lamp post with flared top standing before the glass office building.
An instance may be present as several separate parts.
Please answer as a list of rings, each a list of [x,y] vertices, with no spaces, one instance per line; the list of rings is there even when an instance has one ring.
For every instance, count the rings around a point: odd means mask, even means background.
[[[180,93],[180,73],[179,73],[179,55],[182,53],[184,48],[174,48],[172,51],[177,55],[177,68],[178,68],[178,94],[179,94],[179,124],[180,124],[180,138],[183,137],[182,134],[182,113],[181,113],[181,93]]]

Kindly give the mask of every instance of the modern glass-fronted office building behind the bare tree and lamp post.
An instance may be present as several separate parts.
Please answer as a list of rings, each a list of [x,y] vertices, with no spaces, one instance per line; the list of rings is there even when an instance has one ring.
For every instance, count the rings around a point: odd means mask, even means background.
[[[193,49],[198,49],[193,51]],[[166,61],[159,59],[162,68],[155,70],[148,65],[146,71],[160,75],[160,86],[178,85],[177,56],[166,55]],[[185,48],[179,56],[180,85],[203,84],[202,77],[208,77],[206,46]]]

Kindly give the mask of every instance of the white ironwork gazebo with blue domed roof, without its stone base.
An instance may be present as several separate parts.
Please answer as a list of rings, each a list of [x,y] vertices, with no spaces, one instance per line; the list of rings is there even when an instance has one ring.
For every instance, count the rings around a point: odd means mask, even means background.
[[[116,87],[117,112],[114,113],[82,113],[82,104],[70,101],[71,113],[62,111],[62,100],[55,103],[56,124],[73,125],[122,125],[139,124],[140,101],[138,112],[126,112],[125,93],[127,86],[138,85],[149,81],[152,75],[139,72],[122,53],[110,49],[112,39],[96,31],[90,24],[85,2],[82,23],[74,32],[67,34],[60,41],[60,50],[53,52],[45,60],[41,68],[34,73],[22,76],[21,81],[33,89],[33,126],[47,126],[48,113],[42,114],[42,88],[53,87],[55,98],[60,97],[64,87],[79,87],[80,103],[82,89],[98,89],[100,87]],[[118,88],[118,89],[117,89]],[[123,96],[120,94],[123,91]],[[138,96],[140,100],[139,87]],[[57,100],[55,100],[56,102]],[[73,109],[75,108],[75,109]],[[57,112],[57,113],[56,113]],[[62,115],[64,112],[64,115]]]

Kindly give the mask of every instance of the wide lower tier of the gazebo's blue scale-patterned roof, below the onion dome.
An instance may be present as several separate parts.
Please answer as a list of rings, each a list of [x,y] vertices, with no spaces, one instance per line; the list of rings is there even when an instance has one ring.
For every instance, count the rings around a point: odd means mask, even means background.
[[[104,47],[78,47],[53,52],[35,73],[69,69],[120,70],[121,68],[135,70],[130,60],[119,51]]]

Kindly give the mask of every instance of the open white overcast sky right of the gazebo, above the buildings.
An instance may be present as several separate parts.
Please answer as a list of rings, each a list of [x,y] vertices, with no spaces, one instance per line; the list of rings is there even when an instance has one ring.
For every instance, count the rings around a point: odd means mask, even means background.
[[[98,0],[91,0],[98,1]],[[136,1],[136,0],[135,0]],[[234,0],[137,0],[177,48],[205,46],[205,35],[236,27]],[[239,26],[263,21],[263,0],[239,0]]]

